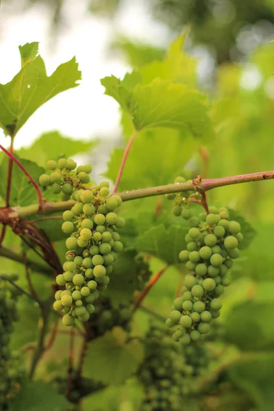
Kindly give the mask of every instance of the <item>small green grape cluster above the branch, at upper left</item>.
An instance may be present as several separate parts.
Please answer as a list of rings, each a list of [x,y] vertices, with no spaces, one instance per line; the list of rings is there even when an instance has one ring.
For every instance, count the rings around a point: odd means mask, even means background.
[[[47,170],[51,174],[42,174],[39,177],[39,184],[42,187],[51,186],[53,194],[59,194],[61,191],[64,199],[69,199],[74,190],[82,188],[83,184],[90,182],[89,173],[92,166],[78,166],[71,158],[60,158],[58,162],[49,160]]]

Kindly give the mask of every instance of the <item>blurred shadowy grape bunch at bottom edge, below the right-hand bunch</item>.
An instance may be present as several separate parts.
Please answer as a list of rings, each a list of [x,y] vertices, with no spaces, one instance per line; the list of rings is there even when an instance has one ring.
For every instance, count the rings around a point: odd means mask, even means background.
[[[152,325],[145,338],[145,360],[138,371],[145,390],[142,411],[190,410],[186,396],[195,388],[193,367],[186,364],[184,347],[163,334],[163,327]]]

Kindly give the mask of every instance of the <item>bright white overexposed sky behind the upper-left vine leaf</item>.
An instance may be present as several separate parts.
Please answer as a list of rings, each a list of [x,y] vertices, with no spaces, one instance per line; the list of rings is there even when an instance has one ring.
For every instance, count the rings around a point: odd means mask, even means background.
[[[6,5],[5,5],[6,3]],[[16,14],[10,1],[2,0],[0,12],[0,83],[9,82],[20,70],[18,46],[39,41],[40,54],[45,60],[47,74],[76,55],[82,82],[77,88],[63,92],[27,121],[18,132],[15,148],[30,145],[42,132],[58,129],[72,138],[87,139],[98,136],[116,136],[119,133],[118,105],[103,95],[100,78],[114,74],[123,77],[129,70],[125,61],[109,57],[108,45],[114,33],[163,45],[169,41],[166,27],[149,18],[145,0],[125,7],[114,21],[92,17],[86,12],[86,0],[66,0],[66,27],[58,38],[49,38],[50,14],[45,7],[35,5],[24,14]],[[51,49],[52,42],[55,49]],[[8,139],[0,132],[0,142],[8,147]]]

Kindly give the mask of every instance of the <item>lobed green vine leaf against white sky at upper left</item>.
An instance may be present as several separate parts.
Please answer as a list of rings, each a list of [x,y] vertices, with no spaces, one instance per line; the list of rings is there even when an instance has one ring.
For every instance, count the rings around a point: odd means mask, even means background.
[[[19,47],[22,68],[7,84],[0,84],[0,127],[15,136],[29,117],[60,92],[76,87],[81,79],[75,58],[61,64],[47,77],[44,60],[37,55],[38,43]]]

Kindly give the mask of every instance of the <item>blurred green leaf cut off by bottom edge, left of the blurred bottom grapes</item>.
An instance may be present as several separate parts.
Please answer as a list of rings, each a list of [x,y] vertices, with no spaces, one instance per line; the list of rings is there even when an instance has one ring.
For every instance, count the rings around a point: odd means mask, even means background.
[[[84,398],[83,411],[139,411],[142,398],[142,386],[129,380],[123,386],[108,386]]]

